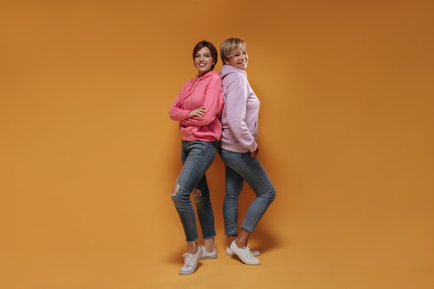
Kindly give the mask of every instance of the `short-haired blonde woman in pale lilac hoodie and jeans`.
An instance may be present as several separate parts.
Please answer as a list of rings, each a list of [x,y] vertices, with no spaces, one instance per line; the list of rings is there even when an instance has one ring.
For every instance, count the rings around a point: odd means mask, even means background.
[[[259,153],[259,99],[247,79],[245,69],[249,56],[247,45],[238,38],[229,38],[220,46],[223,67],[223,100],[221,115],[222,137],[218,150],[225,163],[226,193],[223,218],[227,235],[226,254],[238,256],[243,263],[259,265],[259,252],[248,247],[250,234],[275,199],[276,191],[266,170],[257,158]],[[244,181],[257,198],[248,207],[238,232],[238,198]]]

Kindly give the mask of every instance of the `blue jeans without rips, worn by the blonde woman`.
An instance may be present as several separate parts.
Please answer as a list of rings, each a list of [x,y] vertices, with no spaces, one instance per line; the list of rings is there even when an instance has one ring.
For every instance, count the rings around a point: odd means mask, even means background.
[[[238,198],[243,190],[244,181],[256,193],[257,198],[248,207],[241,228],[252,233],[259,220],[276,197],[266,170],[257,157],[250,157],[250,152],[231,152],[220,148],[218,153],[225,163],[225,200],[223,218],[225,234],[236,235],[238,229]]]

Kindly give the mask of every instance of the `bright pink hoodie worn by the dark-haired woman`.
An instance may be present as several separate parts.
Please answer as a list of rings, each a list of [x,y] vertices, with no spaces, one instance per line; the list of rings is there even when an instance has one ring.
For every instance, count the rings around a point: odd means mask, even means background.
[[[180,122],[184,141],[218,141],[222,133],[219,117],[223,104],[220,75],[209,71],[184,83],[168,114],[173,121]],[[191,110],[199,107],[205,107],[205,114],[190,117]]]

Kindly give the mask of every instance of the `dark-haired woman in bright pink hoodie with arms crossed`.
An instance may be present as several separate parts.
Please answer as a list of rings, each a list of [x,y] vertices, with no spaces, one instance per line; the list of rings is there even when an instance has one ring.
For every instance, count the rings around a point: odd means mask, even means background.
[[[182,169],[172,189],[172,200],[184,228],[187,250],[180,274],[195,272],[199,259],[217,257],[214,244],[214,213],[209,200],[205,172],[211,166],[221,136],[219,120],[223,110],[223,87],[220,75],[212,71],[218,60],[216,47],[201,41],[193,49],[198,76],[184,83],[169,110],[173,121],[180,122]],[[196,203],[204,245],[198,245]]]

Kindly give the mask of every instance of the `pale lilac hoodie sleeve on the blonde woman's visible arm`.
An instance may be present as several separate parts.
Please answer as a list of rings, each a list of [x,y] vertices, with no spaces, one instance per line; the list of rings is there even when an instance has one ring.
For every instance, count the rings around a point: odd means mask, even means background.
[[[226,87],[226,117],[227,125],[236,140],[241,146],[248,148],[251,152],[257,149],[258,145],[245,123],[246,105],[248,100],[247,78],[240,73],[229,73],[225,76]]]

